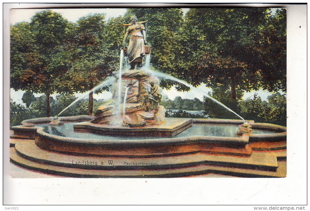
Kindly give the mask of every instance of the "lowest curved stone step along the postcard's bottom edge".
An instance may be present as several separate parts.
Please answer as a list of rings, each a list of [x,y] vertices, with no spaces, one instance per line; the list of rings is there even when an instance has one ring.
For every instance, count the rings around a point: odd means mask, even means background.
[[[63,166],[54,166],[44,163],[34,162],[20,156],[14,147],[11,147],[11,162],[17,166],[35,170],[46,174],[55,174],[67,177],[79,178],[168,178],[168,177],[188,177],[202,174],[223,174],[237,177],[285,177],[286,162],[278,162],[279,167],[276,171],[264,171],[243,169],[224,166],[199,165],[176,169],[157,169],[157,170],[94,170],[78,169]]]

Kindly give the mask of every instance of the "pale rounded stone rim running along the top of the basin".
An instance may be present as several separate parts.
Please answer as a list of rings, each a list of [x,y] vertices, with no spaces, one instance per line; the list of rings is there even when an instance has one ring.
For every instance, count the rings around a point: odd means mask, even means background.
[[[60,121],[64,122],[82,122],[85,120],[92,119],[91,116],[88,115],[80,115],[80,116],[70,116],[70,117],[59,117]],[[38,126],[38,124],[44,124],[44,123],[50,123],[52,118],[34,118],[34,119],[27,119],[24,120],[21,125],[19,126],[13,126],[11,129],[13,131],[36,131],[36,134],[38,136],[43,136],[47,138],[51,138],[52,140],[61,140],[66,141],[69,143],[90,143],[92,144],[106,144],[106,145],[115,145],[115,144],[150,144],[150,145],[156,145],[161,142],[166,141],[166,143],[178,143],[178,141],[185,142],[188,141],[189,138],[192,138],[196,141],[206,140],[215,142],[216,140],[220,140],[220,142],[226,142],[226,143],[236,143],[236,144],[245,144],[248,143],[248,141],[256,141],[256,140],[266,140],[266,139],[273,139],[273,140],[286,140],[286,127],[274,125],[274,124],[268,124],[268,123],[254,123],[254,121],[248,121],[253,129],[264,129],[264,130],[270,130],[270,131],[277,131],[277,133],[266,133],[266,134],[251,134],[249,137],[249,140],[244,141],[243,137],[220,137],[220,136],[189,136],[189,137],[179,137],[179,138],[154,138],[154,139],[131,139],[131,140],[91,140],[91,139],[82,139],[82,138],[69,138],[69,137],[63,137],[63,136],[57,136],[48,134],[43,131],[43,128]],[[240,124],[243,123],[242,120],[232,120],[232,119],[192,119],[194,124]]]

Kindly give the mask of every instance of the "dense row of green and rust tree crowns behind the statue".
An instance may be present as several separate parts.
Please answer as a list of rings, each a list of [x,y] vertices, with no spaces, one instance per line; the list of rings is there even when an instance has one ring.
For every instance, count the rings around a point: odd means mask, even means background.
[[[11,88],[44,93],[49,116],[50,94],[86,92],[118,69],[131,15],[148,20],[154,69],[204,83],[219,100],[230,95],[233,110],[244,91],[286,92],[286,10],[268,8],[191,8],[185,16],[180,8],[129,8],[123,17],[89,14],[76,23],[38,12],[11,26]],[[170,80],[161,85],[189,89]]]

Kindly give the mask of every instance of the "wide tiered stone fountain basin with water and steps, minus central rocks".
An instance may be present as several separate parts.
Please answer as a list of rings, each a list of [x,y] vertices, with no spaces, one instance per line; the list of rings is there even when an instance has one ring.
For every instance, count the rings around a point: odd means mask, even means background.
[[[48,123],[52,118],[38,118],[12,127],[11,162],[47,174],[82,178],[209,173],[286,176],[286,127],[248,121],[256,134],[232,137],[232,131],[243,121],[192,119],[192,127],[172,138],[162,138],[76,132],[74,125],[92,118],[84,115],[58,119],[63,124],[51,125]],[[223,134],[227,130],[230,132]]]

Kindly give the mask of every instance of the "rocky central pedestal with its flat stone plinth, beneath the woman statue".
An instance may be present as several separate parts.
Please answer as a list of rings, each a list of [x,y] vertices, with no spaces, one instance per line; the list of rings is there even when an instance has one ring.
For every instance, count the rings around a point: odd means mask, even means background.
[[[112,93],[113,100],[101,105],[92,121],[77,123],[74,130],[119,136],[173,137],[192,125],[191,119],[165,118],[166,109],[159,105],[162,97],[159,80],[151,72],[124,71],[121,79],[116,78]],[[118,94],[124,99],[120,105],[117,105]],[[122,107],[120,114],[117,113],[119,107]]]

